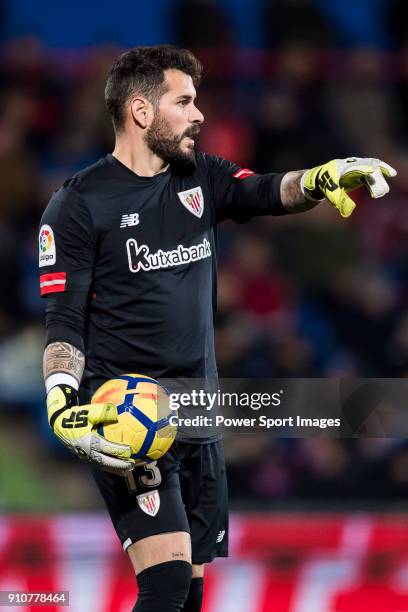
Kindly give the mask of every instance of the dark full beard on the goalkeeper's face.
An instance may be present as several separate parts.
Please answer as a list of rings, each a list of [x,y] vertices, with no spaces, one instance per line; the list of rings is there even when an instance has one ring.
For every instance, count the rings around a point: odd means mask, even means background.
[[[195,151],[193,147],[183,151],[181,141],[186,136],[192,138],[199,132],[199,126],[194,125],[183,132],[181,136],[175,136],[166,119],[156,112],[151,126],[146,131],[145,141],[149,149],[164,162],[176,165],[179,168],[189,169],[191,164],[194,163]]]

